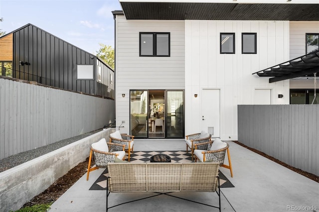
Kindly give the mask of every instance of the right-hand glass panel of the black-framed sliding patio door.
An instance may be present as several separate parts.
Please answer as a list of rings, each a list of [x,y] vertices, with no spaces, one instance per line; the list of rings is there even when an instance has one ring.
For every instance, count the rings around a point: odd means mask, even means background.
[[[166,137],[184,137],[184,92],[166,91]]]

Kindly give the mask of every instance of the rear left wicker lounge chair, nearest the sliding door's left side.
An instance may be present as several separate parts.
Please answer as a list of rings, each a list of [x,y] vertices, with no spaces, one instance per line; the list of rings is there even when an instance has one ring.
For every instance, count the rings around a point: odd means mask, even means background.
[[[128,153],[128,161],[130,161],[131,153],[134,150],[134,135],[121,134],[119,130],[109,135],[111,143],[125,145],[125,152]]]

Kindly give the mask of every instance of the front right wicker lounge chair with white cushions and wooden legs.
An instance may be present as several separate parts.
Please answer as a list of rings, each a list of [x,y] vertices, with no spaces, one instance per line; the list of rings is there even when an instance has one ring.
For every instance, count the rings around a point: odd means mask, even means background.
[[[216,142],[216,145],[213,145],[214,142]],[[231,177],[233,177],[233,169],[231,166],[228,143],[222,142],[219,138],[216,138],[215,141],[208,141],[205,143],[195,144],[194,148],[195,162],[197,161],[197,159],[201,162],[205,162],[208,160],[212,162],[217,162],[220,164],[220,166],[229,169],[230,175]],[[224,164],[226,151],[229,165]]]

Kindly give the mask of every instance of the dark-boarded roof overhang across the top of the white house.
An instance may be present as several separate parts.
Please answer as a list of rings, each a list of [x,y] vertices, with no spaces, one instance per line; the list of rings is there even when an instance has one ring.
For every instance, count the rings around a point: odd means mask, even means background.
[[[318,0],[120,0],[120,4],[127,19],[319,20]]]

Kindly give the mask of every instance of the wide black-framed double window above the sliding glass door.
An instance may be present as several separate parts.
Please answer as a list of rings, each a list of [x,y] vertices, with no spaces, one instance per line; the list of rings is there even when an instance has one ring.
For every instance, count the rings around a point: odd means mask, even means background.
[[[169,32],[140,32],[140,56],[169,57]]]

